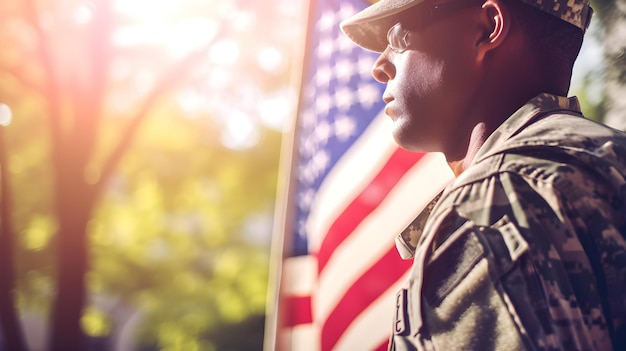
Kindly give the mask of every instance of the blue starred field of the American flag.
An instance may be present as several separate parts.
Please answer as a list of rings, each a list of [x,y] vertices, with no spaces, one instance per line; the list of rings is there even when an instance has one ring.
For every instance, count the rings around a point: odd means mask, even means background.
[[[376,60],[372,53],[357,48],[340,33],[341,20],[356,13],[353,4],[342,3],[322,13],[316,23],[315,62],[304,87],[301,111],[298,166],[299,211],[306,213],[316,201],[317,182],[336,161],[338,152],[358,135],[361,123],[355,113],[367,114],[380,103],[382,85],[372,82],[371,69]],[[358,108],[355,108],[358,107]],[[297,230],[306,233],[303,222]]]

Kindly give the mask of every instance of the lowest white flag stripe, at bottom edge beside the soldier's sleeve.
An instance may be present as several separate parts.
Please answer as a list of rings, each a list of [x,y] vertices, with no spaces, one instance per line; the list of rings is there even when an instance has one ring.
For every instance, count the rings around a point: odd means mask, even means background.
[[[396,293],[407,284],[409,274],[404,274],[365,309],[346,329],[333,350],[371,350],[387,341],[393,327]]]

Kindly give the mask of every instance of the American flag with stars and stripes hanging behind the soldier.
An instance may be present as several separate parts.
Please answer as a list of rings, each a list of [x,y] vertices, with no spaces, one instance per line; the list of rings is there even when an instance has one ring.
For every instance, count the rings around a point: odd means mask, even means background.
[[[339,29],[367,2],[311,1],[276,347],[384,350],[411,265],[395,236],[451,173],[440,155],[393,141],[384,85],[370,73],[377,56]]]

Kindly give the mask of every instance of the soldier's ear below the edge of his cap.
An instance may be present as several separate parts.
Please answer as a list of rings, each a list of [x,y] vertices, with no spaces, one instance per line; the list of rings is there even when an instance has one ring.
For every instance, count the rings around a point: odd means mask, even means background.
[[[492,50],[504,42],[511,28],[511,14],[500,0],[487,0],[479,18],[480,34],[476,40],[476,59],[484,61]]]

